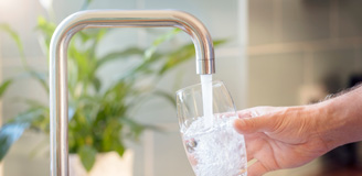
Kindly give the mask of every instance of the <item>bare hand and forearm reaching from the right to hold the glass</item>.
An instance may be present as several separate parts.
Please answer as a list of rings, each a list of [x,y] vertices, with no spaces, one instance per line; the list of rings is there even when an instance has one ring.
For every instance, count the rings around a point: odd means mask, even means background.
[[[362,87],[300,107],[256,107],[238,112],[248,176],[301,166],[342,144],[362,141]]]

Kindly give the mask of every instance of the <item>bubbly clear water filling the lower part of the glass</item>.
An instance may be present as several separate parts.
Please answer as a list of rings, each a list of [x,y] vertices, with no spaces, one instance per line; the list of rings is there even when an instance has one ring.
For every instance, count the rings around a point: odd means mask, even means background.
[[[211,117],[209,117],[211,118]],[[233,128],[236,117],[198,118],[183,133],[183,142],[196,176],[244,176],[246,153],[243,135]]]

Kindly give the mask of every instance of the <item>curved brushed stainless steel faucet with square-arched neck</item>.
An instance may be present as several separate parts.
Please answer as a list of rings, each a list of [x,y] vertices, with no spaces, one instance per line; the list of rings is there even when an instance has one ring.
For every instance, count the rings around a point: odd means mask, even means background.
[[[68,176],[67,46],[89,28],[179,28],[195,47],[196,74],[215,73],[214,48],[206,28],[193,15],[174,10],[88,10],[71,14],[56,28],[50,46],[51,176]]]

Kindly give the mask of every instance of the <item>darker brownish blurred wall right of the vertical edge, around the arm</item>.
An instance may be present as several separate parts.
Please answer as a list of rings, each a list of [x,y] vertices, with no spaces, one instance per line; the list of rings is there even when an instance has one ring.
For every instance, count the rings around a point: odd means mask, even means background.
[[[362,1],[248,1],[247,107],[298,106],[362,80]],[[361,145],[276,175],[362,175]],[[270,174],[273,175],[273,174]]]

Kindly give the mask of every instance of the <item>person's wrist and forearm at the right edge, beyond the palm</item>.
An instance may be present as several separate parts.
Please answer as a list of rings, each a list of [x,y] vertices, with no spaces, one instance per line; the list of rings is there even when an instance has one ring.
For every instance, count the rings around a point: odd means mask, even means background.
[[[362,140],[361,90],[318,103],[318,131],[329,150]]]

